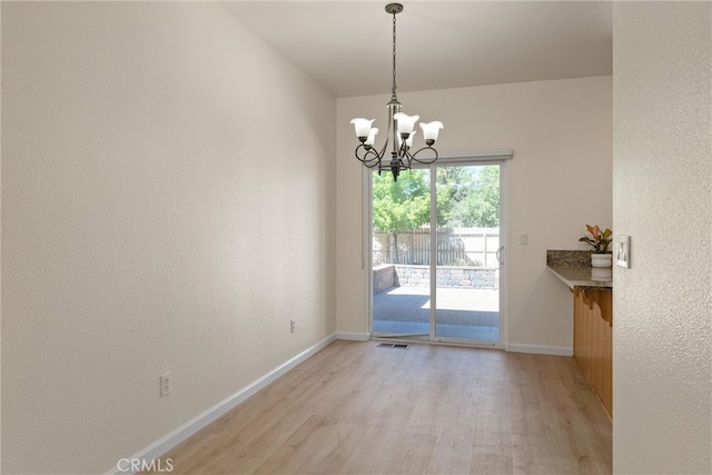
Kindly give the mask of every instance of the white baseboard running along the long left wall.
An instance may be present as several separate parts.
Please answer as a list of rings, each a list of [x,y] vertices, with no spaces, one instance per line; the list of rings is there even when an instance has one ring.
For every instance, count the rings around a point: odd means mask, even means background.
[[[194,435],[195,433],[197,433],[198,431],[200,431],[211,422],[216,420],[227,412],[234,409],[239,404],[247,400],[247,398],[253,396],[258,390],[269,386],[269,384],[274,383],[277,378],[279,378],[285,373],[293,369],[295,366],[306,362],[316,353],[326,348],[329,344],[336,340],[336,338],[337,338],[336,334],[329,335],[328,337],[324,338],[322,342],[317,343],[316,345],[313,345],[312,347],[305,349],[304,352],[301,352],[294,358],[289,359],[285,364],[267,373],[265,376],[260,377],[259,379],[255,380],[254,383],[249,384],[248,386],[233,394],[228,398],[210,407],[208,410],[188,420],[186,424],[178,427],[170,434],[159,438],[158,441],[156,441],[148,447],[144,448],[142,451],[138,452],[134,456],[128,457],[128,459],[130,461],[141,459],[141,461],[150,462],[152,459],[159,458],[161,455],[164,455],[166,452],[168,452],[176,445],[180,444],[181,442],[184,442],[185,439],[187,439],[188,437],[190,437],[191,435]],[[115,466],[109,472],[107,472],[107,475],[125,475],[128,473],[134,473],[134,472],[130,469],[120,469],[118,466]]]

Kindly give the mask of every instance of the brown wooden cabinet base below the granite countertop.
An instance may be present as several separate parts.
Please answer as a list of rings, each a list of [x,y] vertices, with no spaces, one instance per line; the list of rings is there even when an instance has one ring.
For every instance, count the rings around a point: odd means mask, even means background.
[[[574,288],[574,357],[609,416],[613,418],[612,294]]]

